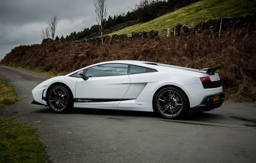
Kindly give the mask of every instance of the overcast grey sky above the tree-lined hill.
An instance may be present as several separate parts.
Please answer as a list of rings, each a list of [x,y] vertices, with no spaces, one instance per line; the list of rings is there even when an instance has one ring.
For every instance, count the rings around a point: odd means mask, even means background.
[[[139,0],[108,0],[108,15],[128,12]],[[95,24],[92,0],[0,0],[0,60],[17,45],[42,41],[41,28],[52,15],[60,23],[56,34],[66,36]]]

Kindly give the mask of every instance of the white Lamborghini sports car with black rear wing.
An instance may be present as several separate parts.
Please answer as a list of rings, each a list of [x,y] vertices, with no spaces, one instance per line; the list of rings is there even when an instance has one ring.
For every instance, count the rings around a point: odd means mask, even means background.
[[[223,103],[220,67],[191,69],[115,60],[50,78],[32,91],[33,104],[54,112],[75,108],[157,112],[163,118],[206,112]]]

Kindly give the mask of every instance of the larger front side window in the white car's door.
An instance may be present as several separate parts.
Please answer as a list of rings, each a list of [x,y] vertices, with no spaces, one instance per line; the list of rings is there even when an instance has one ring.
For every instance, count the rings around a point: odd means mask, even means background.
[[[127,75],[128,65],[127,64],[103,64],[93,66],[87,69],[85,75],[90,77],[104,77],[104,76],[118,76]]]

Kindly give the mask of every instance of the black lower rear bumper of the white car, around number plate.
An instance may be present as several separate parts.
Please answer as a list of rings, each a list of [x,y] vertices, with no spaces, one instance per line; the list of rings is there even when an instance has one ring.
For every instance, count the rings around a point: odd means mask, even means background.
[[[220,98],[217,101],[213,102],[214,95],[204,97],[204,100],[202,100],[201,104],[195,107],[192,107],[189,109],[189,113],[198,113],[198,112],[208,112],[215,108],[218,108],[222,105],[224,102],[225,94],[219,94]]]

